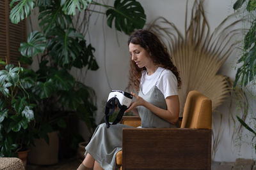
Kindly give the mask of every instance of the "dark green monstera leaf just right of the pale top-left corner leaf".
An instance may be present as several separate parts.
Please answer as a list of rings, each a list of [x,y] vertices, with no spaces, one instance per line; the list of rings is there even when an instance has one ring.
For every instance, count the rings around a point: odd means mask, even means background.
[[[39,26],[46,35],[48,35],[52,28],[60,27],[61,29],[66,29],[72,23],[71,17],[63,13],[58,3],[53,3],[47,6],[47,8],[44,6],[40,7],[38,20],[40,20]]]

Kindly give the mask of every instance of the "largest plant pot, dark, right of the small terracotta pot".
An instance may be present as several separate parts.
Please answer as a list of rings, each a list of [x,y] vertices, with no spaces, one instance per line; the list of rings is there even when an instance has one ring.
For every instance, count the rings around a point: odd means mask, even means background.
[[[48,133],[49,145],[44,139],[35,139],[28,160],[31,164],[52,165],[58,163],[59,137],[57,131]]]

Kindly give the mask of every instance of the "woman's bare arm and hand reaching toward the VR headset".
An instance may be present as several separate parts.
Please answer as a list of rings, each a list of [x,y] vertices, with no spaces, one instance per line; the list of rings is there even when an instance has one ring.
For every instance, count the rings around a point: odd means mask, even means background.
[[[163,118],[164,120],[170,122],[171,124],[175,124],[179,119],[179,96],[168,96],[166,97],[166,105],[167,110],[163,110],[154,106],[153,104],[148,103],[142,97],[138,96],[137,94],[132,93],[132,96],[136,98],[136,101],[131,104],[130,108],[125,112],[131,111],[132,109],[136,108],[137,106],[144,106],[148,108],[148,110],[155,113],[158,117]]]

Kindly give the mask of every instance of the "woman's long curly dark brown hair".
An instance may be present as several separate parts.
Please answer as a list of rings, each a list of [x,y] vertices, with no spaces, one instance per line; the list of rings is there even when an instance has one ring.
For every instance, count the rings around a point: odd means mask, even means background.
[[[157,66],[172,71],[177,78],[178,87],[180,87],[181,81],[177,67],[173,65],[170,54],[155,34],[145,29],[140,29],[130,36],[128,45],[130,43],[140,45],[147,50],[147,52],[150,53],[152,61]],[[145,67],[140,68],[136,66],[136,63],[130,58],[129,87],[132,87],[132,89],[137,91],[140,89],[141,73],[145,69]]]

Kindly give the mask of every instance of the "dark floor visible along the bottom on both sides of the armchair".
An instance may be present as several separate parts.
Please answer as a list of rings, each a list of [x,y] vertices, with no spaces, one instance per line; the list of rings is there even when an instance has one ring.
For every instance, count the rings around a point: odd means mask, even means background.
[[[61,160],[53,166],[35,166],[28,164],[26,170],[74,170],[81,164],[81,160],[72,158]],[[256,170],[255,161],[252,159],[237,159],[236,162],[212,162],[212,170]]]

